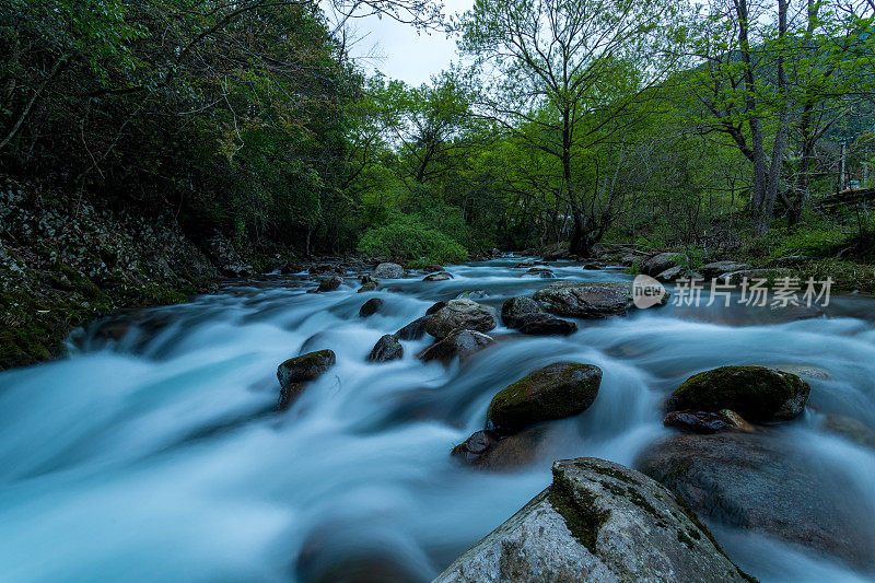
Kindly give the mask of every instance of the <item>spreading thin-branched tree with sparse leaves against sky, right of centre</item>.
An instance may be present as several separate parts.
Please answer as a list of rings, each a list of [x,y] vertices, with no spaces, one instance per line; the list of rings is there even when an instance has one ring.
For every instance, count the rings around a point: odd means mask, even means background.
[[[665,70],[676,10],[665,0],[477,0],[457,23],[462,49],[501,73],[481,115],[557,163],[541,182],[571,214],[572,253],[588,254],[610,222],[609,211],[586,212],[597,186],[581,190],[578,156],[633,123],[637,95]]]

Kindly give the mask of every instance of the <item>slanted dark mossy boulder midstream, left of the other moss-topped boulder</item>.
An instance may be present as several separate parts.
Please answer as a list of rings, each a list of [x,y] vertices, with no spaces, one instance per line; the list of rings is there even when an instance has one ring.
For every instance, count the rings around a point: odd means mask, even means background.
[[[594,364],[556,362],[537,370],[492,398],[488,424],[502,433],[579,415],[595,400],[602,369]]]

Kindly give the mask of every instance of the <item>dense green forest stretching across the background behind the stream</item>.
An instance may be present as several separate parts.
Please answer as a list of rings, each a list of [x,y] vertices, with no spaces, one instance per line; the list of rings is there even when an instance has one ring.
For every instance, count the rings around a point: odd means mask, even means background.
[[[195,240],[425,263],[559,242],[868,249],[867,212],[818,205],[875,179],[865,2],[0,11],[3,173]],[[459,59],[421,86],[369,71],[345,45],[360,13],[451,31]]]

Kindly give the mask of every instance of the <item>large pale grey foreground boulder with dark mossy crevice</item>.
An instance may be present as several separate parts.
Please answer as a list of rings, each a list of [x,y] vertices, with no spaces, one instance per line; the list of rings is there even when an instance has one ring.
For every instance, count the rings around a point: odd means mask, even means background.
[[[687,506],[612,462],[557,462],[552,485],[434,583],[743,582]]]

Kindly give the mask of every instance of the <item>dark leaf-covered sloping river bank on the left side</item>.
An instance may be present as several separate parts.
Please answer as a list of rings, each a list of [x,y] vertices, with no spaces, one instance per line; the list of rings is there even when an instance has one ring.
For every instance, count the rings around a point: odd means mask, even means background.
[[[283,257],[198,246],[174,217],[96,209],[78,197],[0,179],[0,370],[65,353],[69,333],[132,307],[176,304]]]

